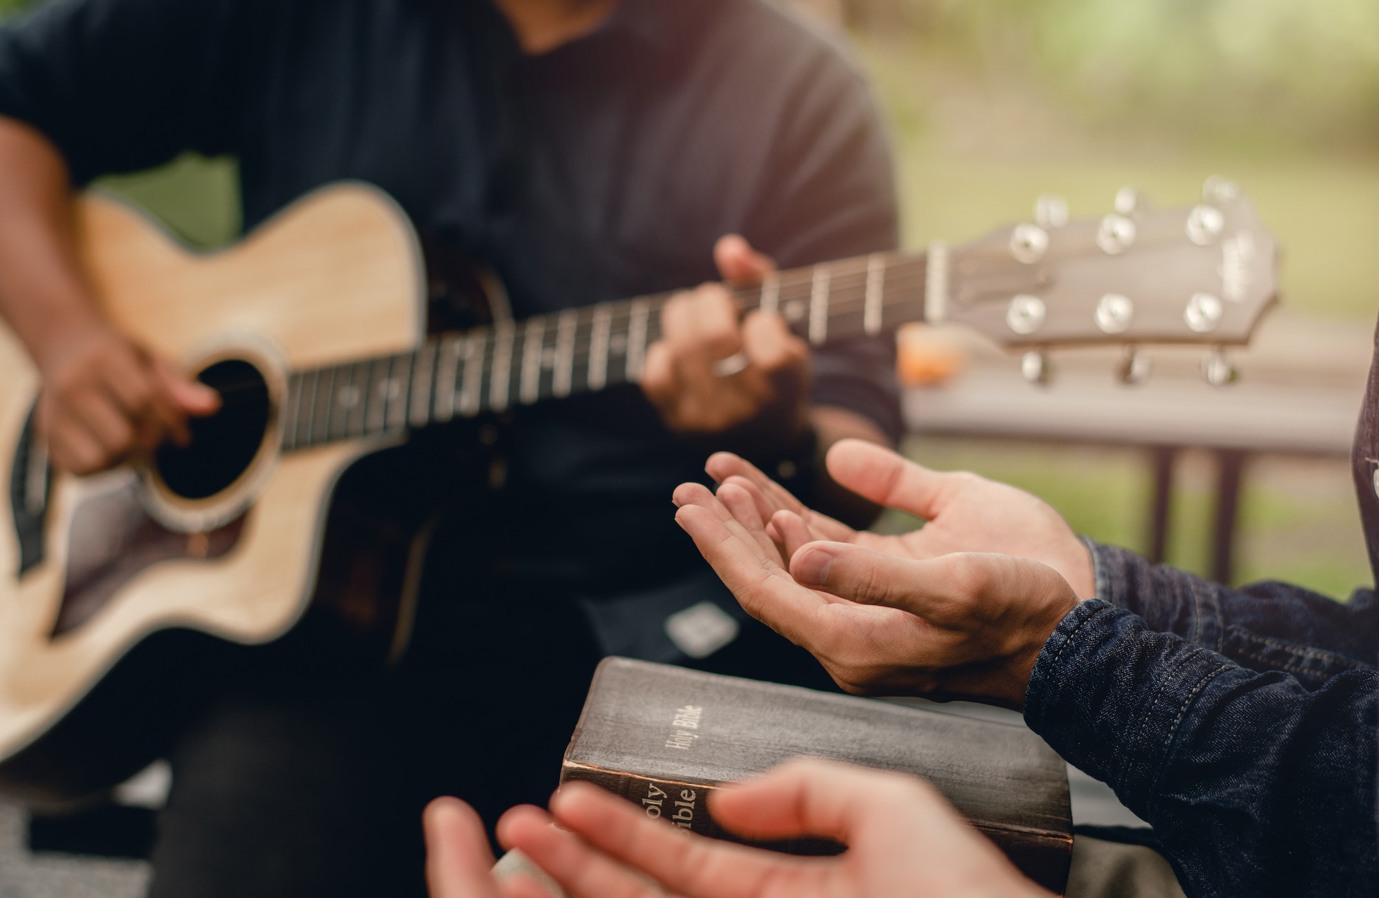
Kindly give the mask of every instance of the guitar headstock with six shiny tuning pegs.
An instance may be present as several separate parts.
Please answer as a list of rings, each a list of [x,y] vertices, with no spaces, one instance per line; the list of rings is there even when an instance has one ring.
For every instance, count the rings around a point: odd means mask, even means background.
[[[1060,200],[1041,197],[1033,222],[949,251],[943,317],[1038,353],[1094,343],[1219,350],[1247,343],[1276,300],[1276,260],[1249,201],[1219,178],[1191,208],[1154,209],[1127,189],[1095,219],[1069,220]],[[1208,380],[1233,379],[1223,364],[1218,354],[1204,366]],[[1023,368],[1047,377],[1041,355]],[[1142,376],[1131,354],[1123,377]]]

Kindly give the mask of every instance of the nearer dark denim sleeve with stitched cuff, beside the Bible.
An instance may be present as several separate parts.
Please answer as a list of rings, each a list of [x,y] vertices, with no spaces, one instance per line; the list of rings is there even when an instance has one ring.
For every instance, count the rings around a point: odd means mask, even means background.
[[[1309,689],[1091,599],[1045,643],[1025,719],[1154,826],[1189,895],[1353,895],[1379,876],[1376,697],[1372,669]]]

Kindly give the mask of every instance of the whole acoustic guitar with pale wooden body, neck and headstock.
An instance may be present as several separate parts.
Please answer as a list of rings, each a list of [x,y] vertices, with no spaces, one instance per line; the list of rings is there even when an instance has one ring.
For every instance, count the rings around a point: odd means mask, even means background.
[[[1276,245],[1238,191],[1214,180],[1179,211],[1123,191],[1117,207],[1069,222],[1047,200],[1036,220],[964,247],[782,271],[735,296],[814,346],[963,322],[1026,350],[1036,380],[1051,346],[1245,343],[1274,300]],[[33,427],[39,375],[0,326],[0,785],[30,800],[98,791],[149,760],[112,731],[159,718],[138,705],[139,676],[178,675],[141,657],[159,634],[266,643],[325,606],[401,651],[425,540],[381,537],[397,551],[363,573],[353,556],[323,563],[352,466],[430,424],[636,383],[661,336],[666,296],[427,337],[418,240],[359,183],[317,190],[210,255],[101,196],[79,198],[76,223],[108,318],[223,406],[185,449],[57,472]],[[1138,373],[1132,359],[1124,375]],[[348,598],[356,581],[386,607]],[[109,686],[121,679],[132,685]]]

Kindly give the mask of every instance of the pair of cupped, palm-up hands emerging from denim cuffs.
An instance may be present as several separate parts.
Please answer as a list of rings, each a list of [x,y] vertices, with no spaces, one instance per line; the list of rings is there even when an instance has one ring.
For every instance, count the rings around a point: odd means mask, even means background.
[[[676,519],[742,606],[843,689],[1019,709],[1044,642],[1077,605],[1066,577],[1091,589],[1087,550],[1022,490],[858,441],[827,461],[837,482],[929,523],[902,537],[852,532],[723,453],[709,463],[718,496],[681,485]]]

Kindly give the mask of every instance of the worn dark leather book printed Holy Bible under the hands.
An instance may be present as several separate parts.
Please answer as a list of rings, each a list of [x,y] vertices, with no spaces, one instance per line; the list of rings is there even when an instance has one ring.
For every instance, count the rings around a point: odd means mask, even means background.
[[[1018,724],[604,658],[560,781],[587,780],[648,817],[741,842],[709,815],[707,793],[801,755],[924,777],[1026,876],[1062,894],[1073,851],[1067,770]]]

